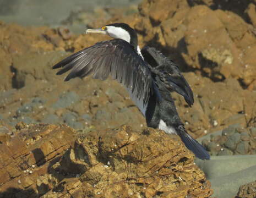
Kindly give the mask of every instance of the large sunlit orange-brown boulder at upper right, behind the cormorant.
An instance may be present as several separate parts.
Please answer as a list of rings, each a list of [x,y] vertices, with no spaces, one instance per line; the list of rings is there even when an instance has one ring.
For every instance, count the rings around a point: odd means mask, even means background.
[[[255,27],[247,23],[254,24],[256,12],[249,3],[145,0],[135,28],[144,43],[160,44],[183,68],[199,69],[215,81],[241,79],[248,86],[256,80]]]

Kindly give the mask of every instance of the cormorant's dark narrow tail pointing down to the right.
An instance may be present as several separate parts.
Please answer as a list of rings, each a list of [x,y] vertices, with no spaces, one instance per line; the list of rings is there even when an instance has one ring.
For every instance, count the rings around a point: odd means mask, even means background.
[[[195,157],[201,160],[210,160],[209,153],[204,149],[204,147],[195,139],[193,139],[187,131],[184,129],[183,125],[179,125],[176,129],[177,134],[183,141],[184,145],[194,153]]]

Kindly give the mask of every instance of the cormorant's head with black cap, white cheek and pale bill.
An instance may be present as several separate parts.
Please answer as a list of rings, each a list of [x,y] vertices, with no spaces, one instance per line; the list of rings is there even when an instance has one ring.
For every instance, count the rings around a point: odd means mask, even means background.
[[[134,47],[138,45],[138,37],[135,30],[125,23],[108,24],[100,29],[87,29],[86,34],[88,33],[105,34],[113,38],[120,38],[127,41]]]

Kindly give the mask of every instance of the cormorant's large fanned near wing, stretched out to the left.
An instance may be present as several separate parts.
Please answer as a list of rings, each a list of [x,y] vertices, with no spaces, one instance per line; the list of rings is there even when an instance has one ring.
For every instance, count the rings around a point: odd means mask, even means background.
[[[135,102],[143,104],[141,108],[145,108],[152,90],[148,64],[128,42],[121,39],[96,43],[63,59],[53,66],[56,68],[62,68],[57,75],[70,70],[65,81],[89,74],[93,79],[106,80],[111,75],[127,88],[132,98],[137,100]]]

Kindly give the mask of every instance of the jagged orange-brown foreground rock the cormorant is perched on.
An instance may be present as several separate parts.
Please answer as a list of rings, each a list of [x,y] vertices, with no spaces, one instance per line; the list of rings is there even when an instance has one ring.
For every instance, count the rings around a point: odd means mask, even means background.
[[[193,154],[175,135],[152,129],[138,133],[127,126],[86,135],[56,125],[17,128],[12,139],[0,144],[0,197],[209,197],[213,193],[193,163]]]

